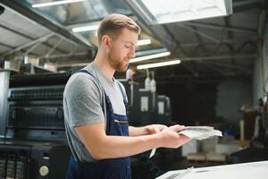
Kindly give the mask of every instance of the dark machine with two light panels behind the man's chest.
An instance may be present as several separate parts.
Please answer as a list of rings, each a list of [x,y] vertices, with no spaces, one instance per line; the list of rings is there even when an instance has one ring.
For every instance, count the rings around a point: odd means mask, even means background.
[[[135,81],[120,79],[130,106],[130,125],[169,124],[172,122],[170,98],[150,90],[139,89]]]

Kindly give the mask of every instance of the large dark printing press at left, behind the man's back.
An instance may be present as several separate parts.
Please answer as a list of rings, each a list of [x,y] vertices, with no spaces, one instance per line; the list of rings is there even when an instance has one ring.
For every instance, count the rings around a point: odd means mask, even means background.
[[[69,73],[0,72],[0,178],[64,178],[63,90]]]

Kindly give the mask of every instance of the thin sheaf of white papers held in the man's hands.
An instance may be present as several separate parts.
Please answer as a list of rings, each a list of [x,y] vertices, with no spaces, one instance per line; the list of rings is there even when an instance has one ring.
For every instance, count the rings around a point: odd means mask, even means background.
[[[222,136],[222,132],[214,130],[214,127],[210,126],[188,126],[181,130],[179,134],[186,135],[189,138],[199,141],[212,136]]]

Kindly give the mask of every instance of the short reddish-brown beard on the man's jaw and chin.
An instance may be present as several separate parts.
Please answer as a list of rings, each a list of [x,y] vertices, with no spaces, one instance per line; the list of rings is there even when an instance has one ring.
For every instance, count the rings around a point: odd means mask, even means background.
[[[116,72],[126,72],[129,64],[124,64],[124,60],[113,55],[113,51],[108,54],[108,63],[113,67]]]

